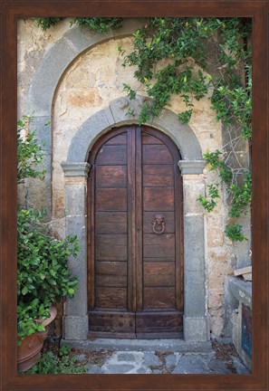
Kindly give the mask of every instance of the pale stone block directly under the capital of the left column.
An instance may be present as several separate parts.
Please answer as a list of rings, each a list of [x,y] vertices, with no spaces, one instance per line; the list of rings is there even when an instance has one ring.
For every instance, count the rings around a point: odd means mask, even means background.
[[[85,215],[86,198],[86,186],[65,186],[65,214]]]

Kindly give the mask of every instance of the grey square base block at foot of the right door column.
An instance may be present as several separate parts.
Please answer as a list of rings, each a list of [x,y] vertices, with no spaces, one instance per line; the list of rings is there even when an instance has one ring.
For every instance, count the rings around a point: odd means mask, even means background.
[[[184,339],[187,342],[203,342],[210,339],[207,317],[183,316]]]

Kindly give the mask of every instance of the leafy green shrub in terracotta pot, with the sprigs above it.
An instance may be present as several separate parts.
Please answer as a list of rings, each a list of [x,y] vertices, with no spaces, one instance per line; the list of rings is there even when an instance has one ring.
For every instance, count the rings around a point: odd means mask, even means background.
[[[43,177],[34,165],[42,161],[42,150],[18,122],[18,184],[26,177]],[[21,137],[22,130],[26,135]],[[56,239],[44,222],[45,210],[27,205],[17,207],[17,337],[18,370],[33,367],[40,357],[48,325],[56,316],[54,304],[73,297],[77,278],[68,270],[68,259],[79,251],[75,236]]]

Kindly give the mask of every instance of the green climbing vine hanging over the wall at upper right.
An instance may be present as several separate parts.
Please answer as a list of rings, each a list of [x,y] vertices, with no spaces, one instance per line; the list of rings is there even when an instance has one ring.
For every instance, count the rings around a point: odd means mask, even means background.
[[[43,29],[62,18],[37,18]],[[71,24],[87,26],[99,33],[118,29],[122,18],[73,18]],[[186,105],[178,120],[187,124],[196,100],[207,97],[216,119],[221,120],[229,141],[222,150],[207,151],[204,158],[219,181],[207,186],[207,196],[199,196],[209,213],[225,184],[230,198],[226,236],[233,241],[246,239],[238,218],[251,203],[252,176],[249,167],[234,167],[230,161],[237,144],[250,142],[252,134],[251,19],[248,18],[176,18],[151,17],[134,33],[133,50],[119,46],[122,66],[135,66],[134,77],[146,88],[152,100],[146,100],[139,112],[139,123],[159,116],[177,95]],[[124,83],[130,100],[136,91]],[[134,113],[129,112],[129,115]]]

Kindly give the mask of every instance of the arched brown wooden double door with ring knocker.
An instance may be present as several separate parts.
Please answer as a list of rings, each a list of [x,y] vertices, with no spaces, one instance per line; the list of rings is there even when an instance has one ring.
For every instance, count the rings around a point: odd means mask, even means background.
[[[146,126],[110,131],[91,150],[88,296],[92,337],[181,338],[179,152]]]

